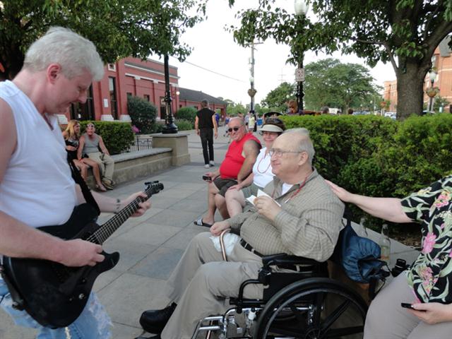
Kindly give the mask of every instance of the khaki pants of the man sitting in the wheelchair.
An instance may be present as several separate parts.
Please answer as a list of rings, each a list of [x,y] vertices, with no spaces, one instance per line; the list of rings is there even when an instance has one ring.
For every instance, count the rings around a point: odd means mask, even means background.
[[[237,297],[244,280],[257,279],[261,257],[234,246],[229,261],[222,261],[210,233],[196,235],[167,281],[167,296],[177,303],[162,339],[190,339],[199,320],[223,314],[229,308],[227,297]],[[249,285],[247,298],[260,299],[262,285]]]

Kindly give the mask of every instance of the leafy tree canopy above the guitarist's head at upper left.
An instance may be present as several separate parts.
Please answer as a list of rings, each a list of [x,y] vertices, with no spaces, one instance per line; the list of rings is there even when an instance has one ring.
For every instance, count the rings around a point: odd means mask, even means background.
[[[150,53],[183,61],[191,49],[179,37],[203,20],[206,1],[0,1],[0,80],[20,71],[25,51],[52,25],[93,41],[106,62],[129,56],[145,59]]]

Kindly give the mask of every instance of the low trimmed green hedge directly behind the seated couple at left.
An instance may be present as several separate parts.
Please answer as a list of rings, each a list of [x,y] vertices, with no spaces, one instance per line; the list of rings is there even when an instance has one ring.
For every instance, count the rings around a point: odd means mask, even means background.
[[[81,121],[81,133],[85,133],[87,124],[94,124],[97,134],[102,136],[110,154],[119,154],[129,149],[135,138],[131,124],[117,121]]]

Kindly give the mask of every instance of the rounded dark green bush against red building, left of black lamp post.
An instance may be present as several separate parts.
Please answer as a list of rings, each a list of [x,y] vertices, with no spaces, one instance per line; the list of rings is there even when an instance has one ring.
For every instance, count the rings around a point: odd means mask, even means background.
[[[153,104],[141,97],[129,97],[127,111],[132,119],[132,124],[138,127],[140,133],[153,133],[157,116],[157,109]]]

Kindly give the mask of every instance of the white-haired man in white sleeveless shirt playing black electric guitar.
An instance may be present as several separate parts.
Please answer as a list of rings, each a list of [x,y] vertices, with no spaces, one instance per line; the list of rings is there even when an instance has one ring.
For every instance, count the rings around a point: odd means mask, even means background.
[[[65,28],[51,28],[25,55],[13,81],[0,83],[0,254],[38,258],[65,266],[94,266],[104,260],[102,246],[82,239],[63,240],[36,227],[62,225],[75,206],[85,203],[71,178],[55,114],[86,101],[92,81],[104,66],[89,40]],[[123,201],[93,193],[100,210],[119,212],[143,192]],[[144,199],[143,199],[144,200]],[[138,203],[133,216],[150,202]],[[0,278],[0,304],[16,323],[40,330],[39,338],[109,338],[109,317],[91,293],[81,316],[66,328],[40,326],[12,309],[11,295]]]

